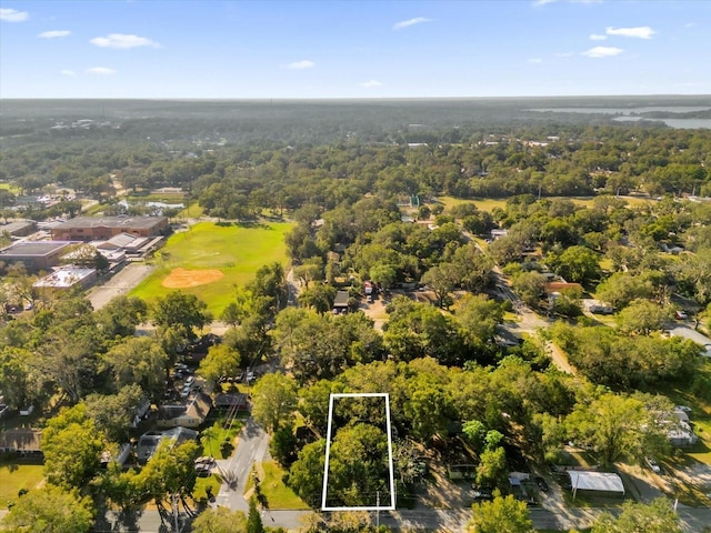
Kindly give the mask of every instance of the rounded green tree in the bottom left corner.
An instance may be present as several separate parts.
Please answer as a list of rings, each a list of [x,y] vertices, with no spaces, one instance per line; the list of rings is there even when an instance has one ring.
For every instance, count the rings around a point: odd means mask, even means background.
[[[21,496],[2,525],[14,532],[84,533],[93,527],[92,503],[76,491],[46,485]]]

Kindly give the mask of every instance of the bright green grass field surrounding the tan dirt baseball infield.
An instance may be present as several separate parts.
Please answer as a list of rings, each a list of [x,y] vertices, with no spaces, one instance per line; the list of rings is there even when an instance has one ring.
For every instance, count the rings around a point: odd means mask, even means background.
[[[176,233],[156,253],[157,269],[131,291],[148,302],[173,289],[161,285],[166,276],[178,268],[188,270],[220,270],[218,281],[180,289],[194,294],[208,304],[216,318],[233,296],[233,289],[254,278],[257,270],[273,262],[287,264],[284,235],[291,230],[288,222],[264,222],[254,225],[200,222],[188,231]]]

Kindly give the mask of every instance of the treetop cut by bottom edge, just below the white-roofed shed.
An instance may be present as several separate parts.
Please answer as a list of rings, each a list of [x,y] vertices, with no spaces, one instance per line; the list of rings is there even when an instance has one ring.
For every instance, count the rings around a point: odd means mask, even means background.
[[[614,517],[603,513],[595,520],[592,533],[681,533],[679,515],[669,500],[659,497],[650,503],[624,502],[622,513]]]

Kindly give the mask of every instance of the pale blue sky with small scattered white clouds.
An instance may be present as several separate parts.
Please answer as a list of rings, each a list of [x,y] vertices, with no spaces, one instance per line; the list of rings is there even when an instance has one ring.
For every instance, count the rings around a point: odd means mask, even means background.
[[[2,0],[0,98],[711,93],[711,1]]]

